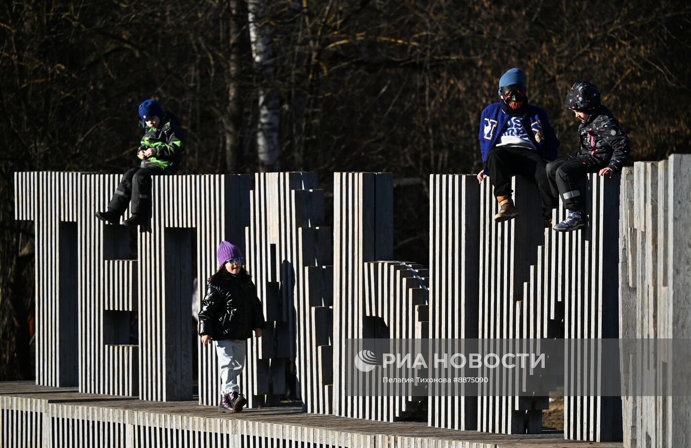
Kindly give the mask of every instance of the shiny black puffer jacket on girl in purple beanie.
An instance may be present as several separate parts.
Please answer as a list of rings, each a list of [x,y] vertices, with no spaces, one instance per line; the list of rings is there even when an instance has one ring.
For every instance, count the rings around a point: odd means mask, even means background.
[[[252,277],[243,268],[238,275],[225,269],[211,277],[199,309],[199,335],[214,340],[243,340],[263,329],[264,314]]]

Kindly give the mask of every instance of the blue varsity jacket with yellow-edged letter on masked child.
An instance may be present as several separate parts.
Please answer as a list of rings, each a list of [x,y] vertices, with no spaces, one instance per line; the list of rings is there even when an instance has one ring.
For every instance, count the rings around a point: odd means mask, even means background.
[[[477,138],[480,139],[483,164],[487,162],[489,151],[497,144],[497,140],[504,132],[507,121],[509,121],[509,115],[502,110],[500,103],[490,104],[482,111],[480,134]],[[521,123],[531,142],[537,148],[540,157],[550,161],[556,159],[559,140],[554,133],[554,128],[549,123],[547,112],[538,106],[529,104]]]

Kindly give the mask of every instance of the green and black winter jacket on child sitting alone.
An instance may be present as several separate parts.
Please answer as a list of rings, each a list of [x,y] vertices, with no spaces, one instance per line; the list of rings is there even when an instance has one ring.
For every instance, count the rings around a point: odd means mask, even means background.
[[[140,151],[149,148],[153,150],[151,157],[140,157]],[[182,155],[184,155],[184,130],[180,127],[178,117],[166,112],[157,129],[146,130],[137,150],[137,157],[142,160],[142,166],[158,166],[167,173],[173,173],[180,166]]]

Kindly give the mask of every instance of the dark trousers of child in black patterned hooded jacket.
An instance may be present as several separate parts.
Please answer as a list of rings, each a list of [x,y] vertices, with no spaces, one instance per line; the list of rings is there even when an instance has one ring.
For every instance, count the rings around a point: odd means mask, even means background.
[[[585,211],[585,181],[588,173],[598,173],[609,160],[594,155],[579,154],[561,157],[547,164],[549,187],[554,197],[561,195],[569,211]]]

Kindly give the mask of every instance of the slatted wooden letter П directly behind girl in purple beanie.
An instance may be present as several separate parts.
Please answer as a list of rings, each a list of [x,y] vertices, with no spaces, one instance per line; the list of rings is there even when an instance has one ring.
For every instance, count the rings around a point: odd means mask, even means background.
[[[198,349],[200,400],[217,402],[216,353],[196,338],[193,279],[197,278],[203,294],[205,279],[218,269],[215,255],[220,240],[245,249],[252,179],[186,175],[153,180],[151,226],[137,234],[140,338],[151,344],[150,348],[140,345],[140,398],[191,399],[192,350]]]

